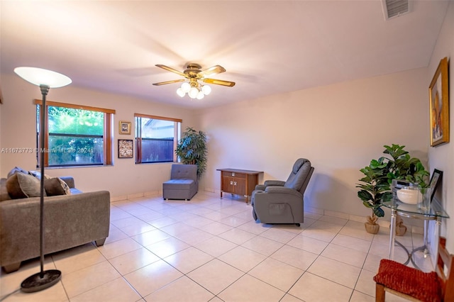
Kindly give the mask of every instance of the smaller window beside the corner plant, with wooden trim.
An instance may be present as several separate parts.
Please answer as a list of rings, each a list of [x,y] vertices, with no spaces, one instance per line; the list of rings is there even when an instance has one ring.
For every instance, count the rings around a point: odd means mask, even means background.
[[[182,120],[135,113],[135,163],[175,162]]]

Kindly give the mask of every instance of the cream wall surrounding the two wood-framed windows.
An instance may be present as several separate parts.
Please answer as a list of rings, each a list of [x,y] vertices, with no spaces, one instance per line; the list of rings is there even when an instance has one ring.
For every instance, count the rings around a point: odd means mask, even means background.
[[[1,105],[1,147],[35,148],[36,147],[36,106],[33,99],[41,99],[40,89],[16,75],[1,77],[4,104]],[[133,159],[118,159],[118,139],[133,139],[131,135],[118,135],[118,121],[134,122],[134,113],[151,114],[182,118],[182,128],[194,125],[193,113],[184,108],[155,104],[150,101],[134,99],[116,94],[79,89],[70,85],[59,89],[50,89],[48,101],[80,104],[116,110],[114,115],[114,165],[107,167],[77,167],[46,169],[50,176],[71,175],[78,189],[95,191],[106,189],[115,198],[128,195],[157,193],[162,189],[162,182],[170,177],[170,163],[135,164]],[[134,123],[132,124],[134,129]],[[36,169],[35,154],[0,154],[0,176],[15,166],[23,169]]]

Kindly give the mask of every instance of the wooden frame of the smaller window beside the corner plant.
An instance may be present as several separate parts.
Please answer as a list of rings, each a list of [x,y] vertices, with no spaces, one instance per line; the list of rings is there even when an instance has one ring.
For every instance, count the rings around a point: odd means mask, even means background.
[[[177,149],[177,144],[179,141],[179,136],[181,133],[181,125],[183,120],[181,118],[167,118],[165,116],[152,116],[150,114],[143,114],[143,113],[134,113],[134,122],[137,121],[137,118],[150,118],[153,120],[161,120],[161,121],[170,121],[177,123],[176,127],[174,127],[174,137],[173,137],[173,152],[172,152],[172,162],[177,162],[177,155],[175,154],[175,150]],[[159,162],[142,162],[142,128],[140,127],[139,130],[138,123],[135,123],[135,164],[155,164]],[[138,132],[140,134],[138,135]]]

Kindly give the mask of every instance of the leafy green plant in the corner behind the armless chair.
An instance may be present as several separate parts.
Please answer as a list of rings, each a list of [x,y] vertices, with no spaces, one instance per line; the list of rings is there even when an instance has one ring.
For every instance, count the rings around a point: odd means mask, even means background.
[[[175,154],[183,164],[197,165],[197,178],[199,179],[206,169],[206,153],[206,134],[203,131],[187,127],[186,131],[182,133]]]

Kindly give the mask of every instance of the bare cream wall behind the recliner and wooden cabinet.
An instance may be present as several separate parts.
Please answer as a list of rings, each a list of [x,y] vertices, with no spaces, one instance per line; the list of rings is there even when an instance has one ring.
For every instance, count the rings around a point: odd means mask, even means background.
[[[209,136],[201,185],[219,191],[216,169],[229,167],[264,171],[260,181],[285,180],[306,157],[315,167],[306,207],[370,215],[355,185],[383,145],[406,145],[427,161],[426,74],[414,69],[206,109],[198,117]]]

